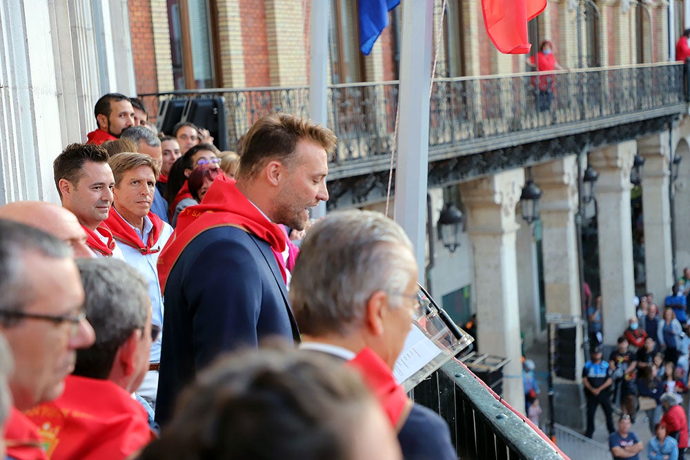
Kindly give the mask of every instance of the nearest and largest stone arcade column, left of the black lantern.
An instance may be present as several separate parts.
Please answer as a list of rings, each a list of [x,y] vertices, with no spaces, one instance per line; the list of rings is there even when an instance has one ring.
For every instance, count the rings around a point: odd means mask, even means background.
[[[475,254],[478,335],[482,352],[507,357],[503,398],[524,412],[520,362],[520,310],[517,306],[515,205],[524,171],[510,170],[460,184]]]

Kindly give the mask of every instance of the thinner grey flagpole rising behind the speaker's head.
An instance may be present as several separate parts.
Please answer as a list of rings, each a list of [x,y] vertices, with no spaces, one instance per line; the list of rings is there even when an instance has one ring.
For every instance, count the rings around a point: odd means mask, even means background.
[[[309,117],[328,125],[328,1],[312,1],[309,17]],[[311,217],[326,215],[326,203],[319,202]]]

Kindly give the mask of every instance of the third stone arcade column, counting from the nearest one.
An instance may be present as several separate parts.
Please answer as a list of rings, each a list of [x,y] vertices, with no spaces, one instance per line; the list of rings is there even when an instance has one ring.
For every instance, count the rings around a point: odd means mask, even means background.
[[[635,314],[633,297],[633,234],[630,213],[630,170],[637,142],[625,141],[593,150],[589,160],[599,173],[597,223],[599,277],[603,297],[604,344],[615,345]]]

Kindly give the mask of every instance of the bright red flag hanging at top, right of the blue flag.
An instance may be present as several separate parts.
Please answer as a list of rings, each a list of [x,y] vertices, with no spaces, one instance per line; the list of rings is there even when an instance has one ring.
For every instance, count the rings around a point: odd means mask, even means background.
[[[527,21],[546,8],[546,0],[482,0],[484,26],[497,50],[504,54],[526,54]]]

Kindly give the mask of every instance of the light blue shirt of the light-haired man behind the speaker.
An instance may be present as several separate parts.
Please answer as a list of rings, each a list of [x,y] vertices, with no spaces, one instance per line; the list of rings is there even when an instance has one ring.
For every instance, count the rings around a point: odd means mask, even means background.
[[[117,212],[115,208],[112,208],[111,212]],[[119,213],[118,213],[119,214]],[[129,223],[128,223],[129,225]],[[141,241],[148,241],[148,235],[151,230],[153,230],[153,223],[148,216],[144,217],[144,232],[142,234],[141,230],[131,226],[137,235],[141,238]],[[152,317],[151,323],[157,324],[163,327],[163,312],[164,312],[164,299],[163,294],[161,294],[161,285],[158,278],[158,256],[163,250],[164,246],[168,242],[172,234],[172,227],[167,223],[163,223],[163,228],[161,229],[161,234],[156,241],[154,249],[158,249],[157,252],[152,254],[141,254],[137,248],[132,248],[125,243],[119,243],[117,246],[122,250],[125,261],[130,264],[130,266],[136,268],[144,275],[146,281],[148,282],[148,296],[151,299]],[[163,339],[163,334],[161,333],[158,340],[151,344],[151,355],[149,362],[158,363],[161,360],[161,341]]]

